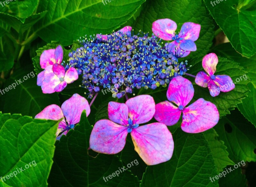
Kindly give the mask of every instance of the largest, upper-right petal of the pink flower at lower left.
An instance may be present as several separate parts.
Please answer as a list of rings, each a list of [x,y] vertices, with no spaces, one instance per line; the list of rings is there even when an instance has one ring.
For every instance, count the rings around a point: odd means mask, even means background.
[[[84,110],[86,110],[86,116],[89,116],[91,112],[88,101],[79,94],[74,94],[66,100],[61,105],[61,109],[70,125],[79,123],[81,114]]]

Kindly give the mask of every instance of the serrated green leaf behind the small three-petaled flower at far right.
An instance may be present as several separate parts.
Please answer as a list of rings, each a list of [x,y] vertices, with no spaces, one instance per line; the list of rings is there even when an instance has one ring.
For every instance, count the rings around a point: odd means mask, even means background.
[[[196,75],[199,71],[204,71],[202,67],[202,60],[203,57],[189,61],[189,65],[192,65],[192,67],[190,68],[188,73]],[[246,85],[247,83],[249,83],[249,79],[245,80],[244,78],[242,78],[242,80],[240,80],[240,76],[246,74],[247,73],[244,71],[244,68],[239,66],[238,63],[219,57],[219,63],[217,65],[215,75],[230,76],[236,87],[234,90],[231,90],[229,92],[220,92],[220,95],[216,97],[212,97],[210,95],[210,91],[208,88],[202,88],[196,85],[194,78],[191,79],[190,77],[185,77],[189,78],[194,84],[194,99],[197,100],[202,97],[205,100],[212,102],[217,106],[218,111],[220,112],[220,116],[225,116],[226,114],[230,113],[230,110],[234,110],[234,108],[237,107],[237,104],[242,102],[241,99],[244,99],[247,96],[249,89]],[[236,81],[237,78],[239,79],[239,81]]]

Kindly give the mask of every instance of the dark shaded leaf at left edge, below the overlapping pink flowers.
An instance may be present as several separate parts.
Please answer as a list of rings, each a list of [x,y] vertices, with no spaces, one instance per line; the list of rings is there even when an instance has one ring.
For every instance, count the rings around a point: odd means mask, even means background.
[[[28,79],[25,80],[24,78]],[[14,74],[4,83],[3,95],[1,94],[2,102],[0,105],[5,113],[35,116],[50,104],[60,104],[57,93],[43,94],[41,87],[36,85],[36,79],[37,77],[31,69],[14,71]],[[6,88],[8,91],[5,90]]]

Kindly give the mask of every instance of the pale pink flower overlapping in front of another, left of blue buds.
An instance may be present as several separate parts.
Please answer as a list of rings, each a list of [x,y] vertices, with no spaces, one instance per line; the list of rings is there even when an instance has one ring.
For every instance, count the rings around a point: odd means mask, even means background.
[[[78,79],[75,68],[65,68],[60,64],[49,65],[43,71],[44,74],[37,76],[37,85],[41,86],[43,93],[60,92],[70,83]]]

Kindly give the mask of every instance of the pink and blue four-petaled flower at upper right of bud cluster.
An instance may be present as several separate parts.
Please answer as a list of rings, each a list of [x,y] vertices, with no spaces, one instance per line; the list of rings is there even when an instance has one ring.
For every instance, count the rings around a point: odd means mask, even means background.
[[[199,37],[201,26],[196,23],[186,22],[182,25],[180,33],[176,34],[177,24],[171,19],[158,19],[152,25],[153,33],[163,40],[173,40],[166,43],[168,51],[177,57],[186,57],[190,51],[196,51],[196,41]]]

